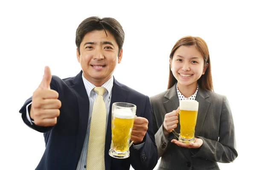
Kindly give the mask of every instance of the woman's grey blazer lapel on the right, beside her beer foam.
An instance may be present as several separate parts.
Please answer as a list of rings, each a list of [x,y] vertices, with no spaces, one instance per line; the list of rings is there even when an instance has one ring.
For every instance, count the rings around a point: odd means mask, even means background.
[[[207,94],[207,92],[200,86],[198,86],[198,94],[195,97],[195,100],[199,102],[198,117],[195,125],[195,136],[199,136],[201,128],[204,124],[204,119],[211,103],[206,100],[208,97],[209,95]]]

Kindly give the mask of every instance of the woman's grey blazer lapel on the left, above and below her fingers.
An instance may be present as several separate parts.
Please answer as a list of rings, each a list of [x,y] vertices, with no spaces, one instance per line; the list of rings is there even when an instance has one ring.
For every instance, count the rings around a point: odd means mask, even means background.
[[[176,90],[176,84],[172,86],[172,88],[167,91],[166,95],[164,96],[164,107],[166,108],[166,113],[170,113],[174,110],[177,110],[177,108],[180,105],[179,98],[177,95],[177,90]],[[180,133],[180,115],[178,115],[178,124],[177,127],[175,128],[175,131],[177,133]]]

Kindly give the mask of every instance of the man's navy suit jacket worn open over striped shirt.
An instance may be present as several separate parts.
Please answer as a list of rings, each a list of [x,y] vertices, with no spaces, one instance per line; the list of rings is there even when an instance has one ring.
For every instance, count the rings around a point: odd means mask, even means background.
[[[58,92],[61,101],[60,116],[52,127],[31,125],[26,118],[26,105],[20,109],[26,125],[44,133],[46,149],[36,170],[76,170],[84,144],[88,124],[89,99],[82,80],[82,71],[76,77],[60,79],[52,76],[51,89]],[[114,102],[128,102],[137,106],[136,115],[148,119],[148,130],[143,139],[144,146],[139,150],[130,147],[131,155],[127,159],[115,159],[108,155],[111,146],[111,110]],[[111,105],[105,140],[105,170],[152,170],[157,164],[157,147],[155,144],[151,120],[151,106],[148,96],[113,81]]]

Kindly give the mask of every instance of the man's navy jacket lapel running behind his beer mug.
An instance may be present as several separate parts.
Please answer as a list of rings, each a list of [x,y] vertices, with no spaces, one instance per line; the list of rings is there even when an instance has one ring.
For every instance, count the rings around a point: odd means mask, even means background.
[[[113,89],[112,89],[112,96],[111,102],[109,107],[109,114],[108,114],[108,127],[106,133],[106,140],[105,140],[105,169],[111,169],[111,156],[109,156],[108,151],[111,147],[111,139],[112,139],[112,132],[111,132],[111,122],[112,122],[112,105],[115,102],[126,102],[128,91],[122,88],[122,84],[114,79],[113,81]]]

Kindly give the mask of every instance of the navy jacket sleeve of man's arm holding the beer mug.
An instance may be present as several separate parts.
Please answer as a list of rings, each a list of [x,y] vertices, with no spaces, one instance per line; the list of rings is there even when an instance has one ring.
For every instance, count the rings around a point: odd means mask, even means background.
[[[148,119],[148,130],[143,139],[145,143],[139,150],[130,148],[131,166],[134,168],[134,170],[153,170],[157,164],[157,146],[154,139],[151,119],[151,106],[148,96],[146,96],[146,104],[143,117]]]

